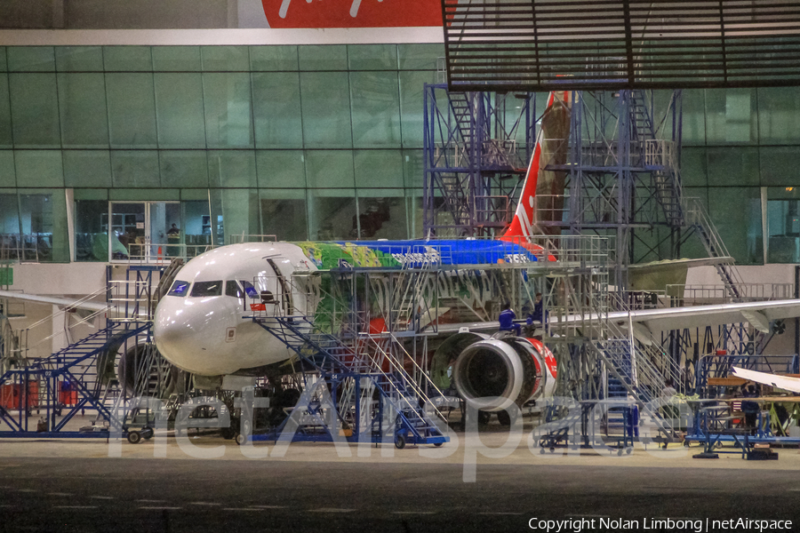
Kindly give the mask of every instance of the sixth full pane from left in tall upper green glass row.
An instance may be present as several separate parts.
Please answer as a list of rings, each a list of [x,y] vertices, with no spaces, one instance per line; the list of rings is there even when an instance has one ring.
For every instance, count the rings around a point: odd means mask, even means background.
[[[303,146],[300,116],[300,75],[276,72],[252,75],[256,146]]]

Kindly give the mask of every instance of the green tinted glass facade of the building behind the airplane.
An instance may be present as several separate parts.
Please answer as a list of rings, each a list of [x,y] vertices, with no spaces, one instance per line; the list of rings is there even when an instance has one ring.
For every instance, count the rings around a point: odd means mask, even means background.
[[[131,240],[124,217],[136,213],[115,206],[137,203],[148,238],[175,246],[419,237],[423,84],[443,55],[442,44],[0,47],[0,238],[24,259],[68,261],[65,188],[76,260],[130,252],[116,240]],[[800,89],[684,91],[683,104],[686,195],[707,203],[740,264],[764,250],[797,260],[776,250],[796,239],[800,208],[772,191],[800,186]]]

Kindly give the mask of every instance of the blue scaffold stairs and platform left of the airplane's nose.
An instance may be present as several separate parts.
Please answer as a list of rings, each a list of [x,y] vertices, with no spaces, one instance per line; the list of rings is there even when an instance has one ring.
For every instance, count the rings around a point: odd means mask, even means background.
[[[124,418],[117,412],[124,407],[124,384],[105,374],[127,343],[149,341],[151,284],[161,270],[131,266],[124,280],[114,281],[108,267],[106,288],[90,295],[105,294],[107,307],[96,313],[98,319],[105,315],[104,327],[48,357],[21,355],[4,365],[0,390],[6,401],[0,402],[0,420],[9,429],[0,431],[0,438],[108,438],[110,431],[125,435]],[[34,410],[36,427],[30,420]],[[96,411],[102,425],[92,431],[68,430],[68,423],[85,410]]]

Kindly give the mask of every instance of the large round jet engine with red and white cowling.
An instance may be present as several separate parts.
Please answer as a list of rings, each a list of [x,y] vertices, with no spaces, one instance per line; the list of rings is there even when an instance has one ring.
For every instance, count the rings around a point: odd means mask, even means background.
[[[460,349],[452,378],[461,396],[478,410],[506,410],[512,403],[552,395],[556,388],[556,359],[539,340],[522,337],[489,338],[459,333],[441,350]]]

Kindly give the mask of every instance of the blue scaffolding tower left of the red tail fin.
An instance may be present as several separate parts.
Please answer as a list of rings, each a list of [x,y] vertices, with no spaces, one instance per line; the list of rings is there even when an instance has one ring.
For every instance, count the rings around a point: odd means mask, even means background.
[[[491,236],[508,226],[535,141],[533,94],[426,84],[426,235]]]

